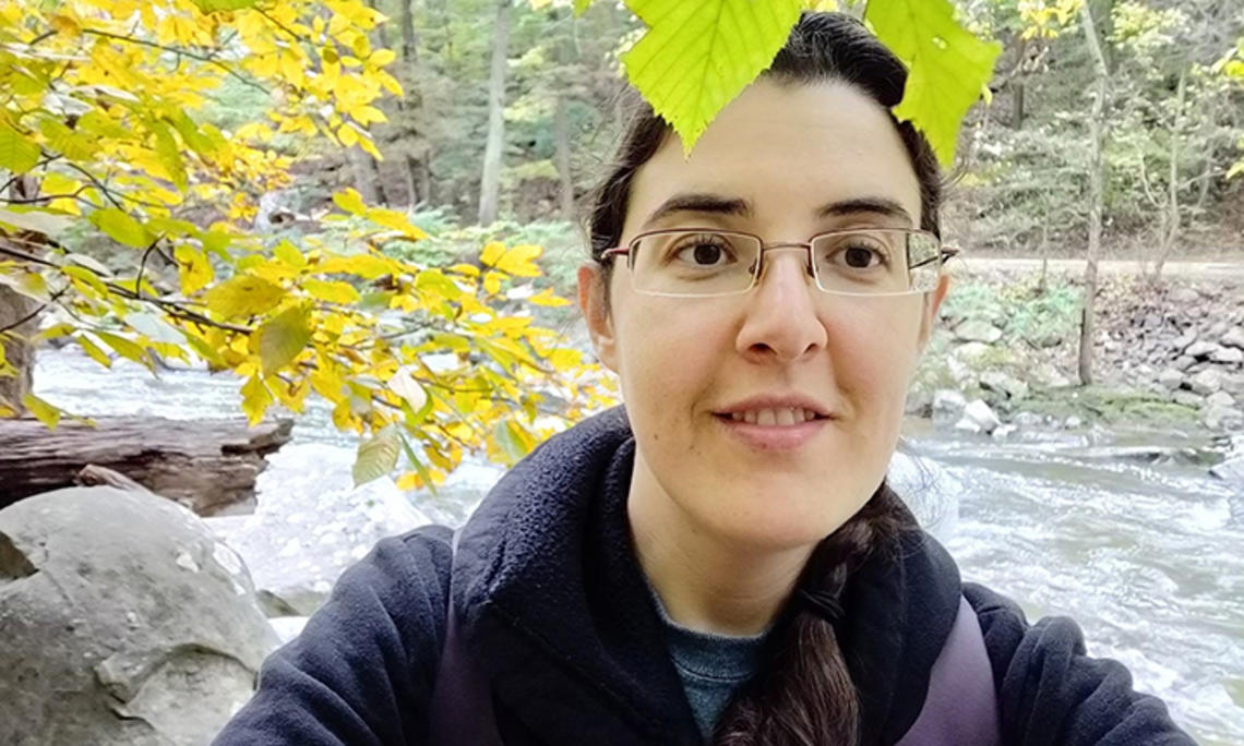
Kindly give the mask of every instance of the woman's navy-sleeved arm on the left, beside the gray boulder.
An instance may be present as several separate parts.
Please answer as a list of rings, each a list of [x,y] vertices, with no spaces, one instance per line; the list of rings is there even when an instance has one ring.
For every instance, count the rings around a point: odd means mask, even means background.
[[[382,540],[264,661],[214,746],[399,746],[425,739],[444,638],[449,531]]]

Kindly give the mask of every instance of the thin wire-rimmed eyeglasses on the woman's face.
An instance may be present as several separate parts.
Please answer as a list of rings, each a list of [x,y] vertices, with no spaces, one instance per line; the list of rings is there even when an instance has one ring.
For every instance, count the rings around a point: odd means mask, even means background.
[[[741,295],[764,275],[766,251],[807,251],[807,271],[832,295],[903,296],[931,292],[958,249],[924,230],[860,228],[817,234],[802,244],[765,244],[728,230],[680,228],[637,235],[601,260],[626,256],[636,292],[671,297]]]

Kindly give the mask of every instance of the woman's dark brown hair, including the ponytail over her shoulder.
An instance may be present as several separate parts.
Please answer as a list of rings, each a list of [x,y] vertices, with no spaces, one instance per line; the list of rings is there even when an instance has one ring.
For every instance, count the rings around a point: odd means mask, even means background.
[[[763,73],[781,83],[841,81],[862,91],[887,112],[903,97],[907,70],[856,19],[804,12],[786,45]],[[617,246],[636,172],[671,136],[669,127],[631,92],[632,114],[617,159],[590,195],[587,234],[592,259]],[[942,175],[924,137],[891,114],[921,188],[921,228],[940,235]],[[611,265],[605,264],[608,288]],[[606,296],[607,297],[607,296]],[[719,745],[855,746],[860,737],[860,698],[835,632],[835,607],[851,572],[872,552],[896,547],[916,528],[911,512],[881,484],[865,506],[817,545],[766,643],[760,670],[726,707],[714,735]],[[805,594],[821,603],[805,602]]]

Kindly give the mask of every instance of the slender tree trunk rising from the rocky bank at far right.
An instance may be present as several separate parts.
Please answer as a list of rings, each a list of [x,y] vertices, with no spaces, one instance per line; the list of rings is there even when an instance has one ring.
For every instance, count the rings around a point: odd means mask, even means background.
[[[1092,383],[1092,353],[1096,337],[1095,301],[1097,296],[1097,256],[1101,252],[1101,213],[1102,213],[1102,140],[1106,129],[1106,57],[1102,55],[1101,41],[1093,25],[1088,4],[1080,11],[1085,44],[1093,58],[1092,113],[1088,116],[1088,254],[1085,262],[1085,302],[1080,322],[1080,383]]]

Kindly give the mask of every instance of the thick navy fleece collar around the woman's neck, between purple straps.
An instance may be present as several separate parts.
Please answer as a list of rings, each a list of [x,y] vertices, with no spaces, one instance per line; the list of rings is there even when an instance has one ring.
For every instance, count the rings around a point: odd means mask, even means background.
[[[633,464],[623,408],[590,418],[511,469],[459,540],[464,639],[499,719],[513,714],[544,741],[700,742],[632,543]],[[892,744],[916,720],[958,603],[958,571],[924,533],[853,573],[840,635],[861,744]]]

